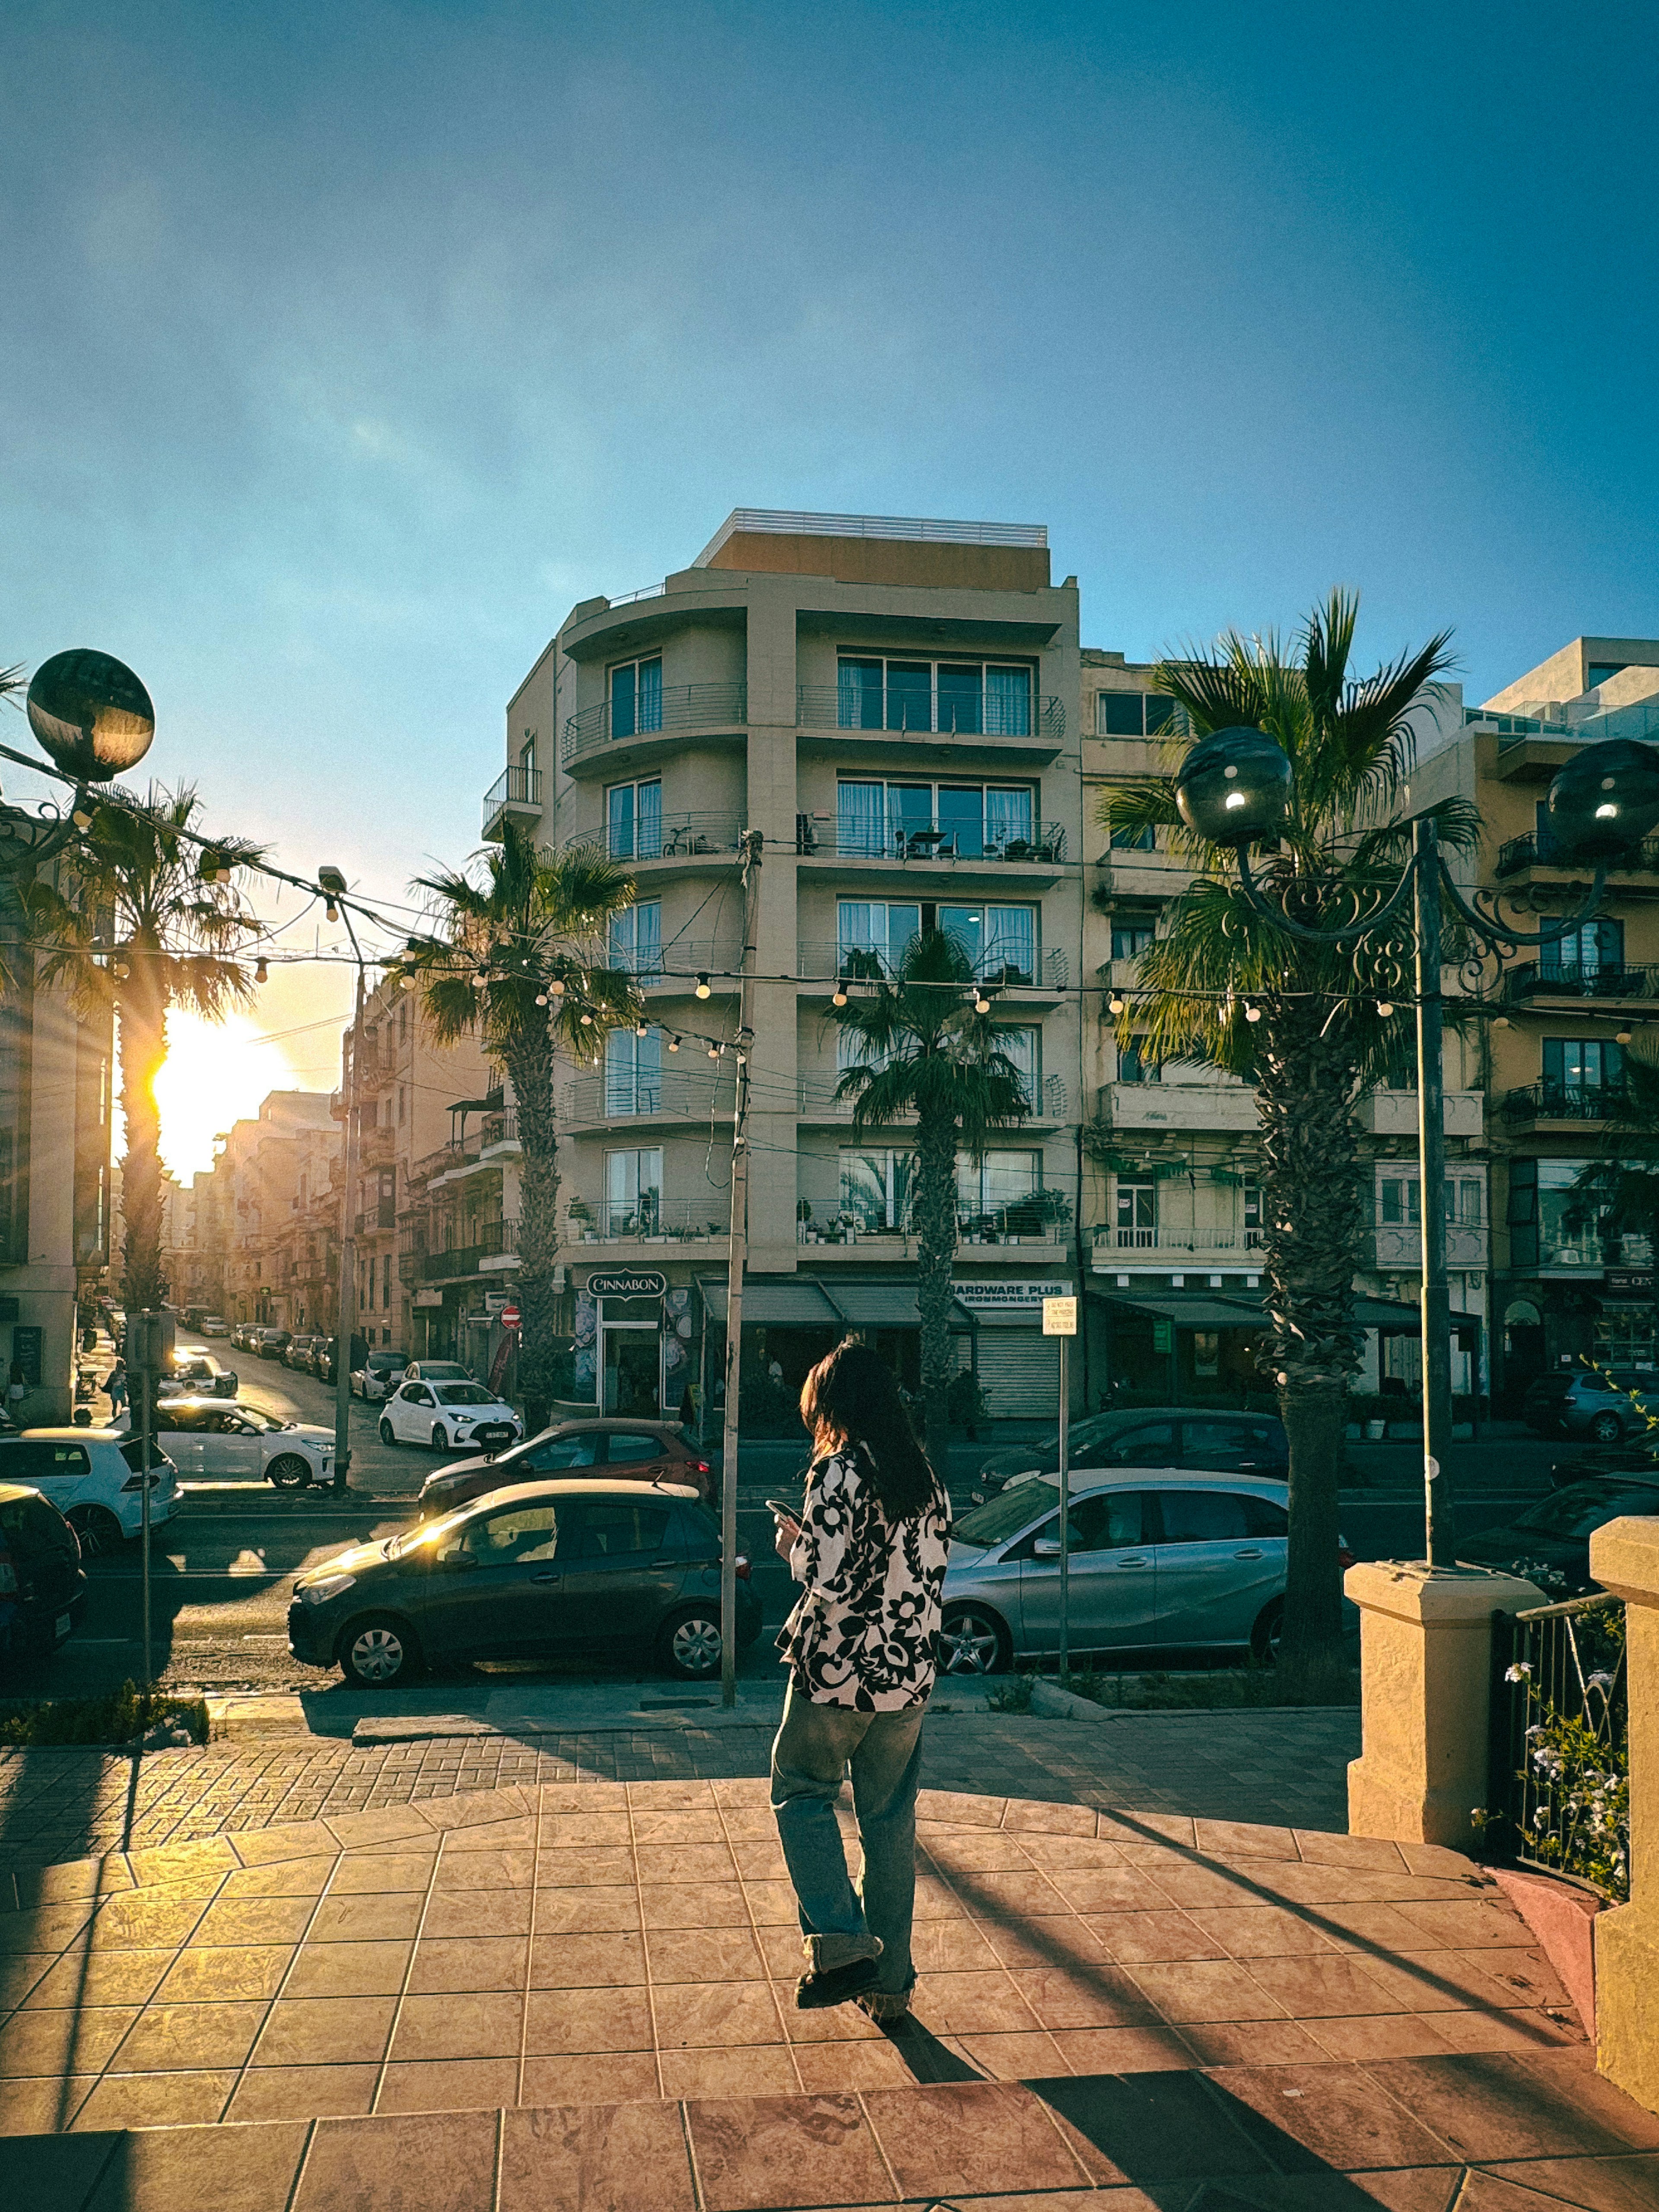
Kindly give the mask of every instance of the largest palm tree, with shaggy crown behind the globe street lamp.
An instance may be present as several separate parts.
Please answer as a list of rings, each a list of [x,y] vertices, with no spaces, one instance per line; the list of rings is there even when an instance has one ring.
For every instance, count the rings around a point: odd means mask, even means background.
[[[1338,927],[1394,891],[1411,849],[1394,818],[1413,759],[1411,708],[1449,666],[1449,633],[1374,675],[1349,675],[1358,597],[1334,591],[1294,650],[1228,630],[1214,650],[1157,664],[1152,688],[1177,701],[1186,737],[1239,723],[1276,737],[1294,799],[1279,843],[1256,867],[1263,896],[1307,927]],[[1471,847],[1467,801],[1429,810],[1440,838]],[[1345,1396],[1358,1369],[1354,1272],[1363,1265],[1354,1099],[1402,1046],[1405,1015],[1383,1004],[1411,989],[1409,922],[1378,938],[1307,945],[1245,900],[1225,849],[1181,825],[1175,774],[1113,790],[1115,832],[1166,830],[1197,874],[1168,933],[1141,953],[1137,991],[1117,1018],[1119,1044],[1146,1035],[1157,1060],[1201,1060],[1254,1086],[1261,1115],[1267,1345],[1290,1438],[1285,1650],[1312,1657],[1340,1637],[1336,1486]]]

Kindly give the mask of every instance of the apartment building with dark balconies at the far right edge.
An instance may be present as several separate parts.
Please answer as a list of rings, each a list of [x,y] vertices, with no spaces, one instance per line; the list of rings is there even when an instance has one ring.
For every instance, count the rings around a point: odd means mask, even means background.
[[[1413,790],[1475,801],[1484,889],[1544,916],[1573,911],[1590,872],[1553,849],[1544,801],[1555,772],[1606,739],[1659,739],[1659,639],[1575,637],[1467,710],[1425,757]],[[1657,984],[1659,841],[1648,841],[1610,872],[1595,922],[1509,962],[1502,1013],[1475,1044],[1486,1055],[1500,1407],[1513,1407],[1531,1376],[1579,1356],[1659,1356],[1650,1239],[1579,1221],[1571,1197],[1584,1164],[1606,1150],[1626,1044],[1644,1031],[1652,1042]]]

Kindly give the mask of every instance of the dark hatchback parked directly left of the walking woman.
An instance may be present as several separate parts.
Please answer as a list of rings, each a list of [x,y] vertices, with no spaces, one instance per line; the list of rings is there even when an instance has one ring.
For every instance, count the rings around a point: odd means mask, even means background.
[[[737,1562],[739,1639],[761,1632]],[[389,1688],[422,1666],[648,1650],[690,1681],[721,1663],[719,1522],[684,1484],[520,1482],[389,1542],[356,1544],[294,1582],[288,1648],[303,1666]]]

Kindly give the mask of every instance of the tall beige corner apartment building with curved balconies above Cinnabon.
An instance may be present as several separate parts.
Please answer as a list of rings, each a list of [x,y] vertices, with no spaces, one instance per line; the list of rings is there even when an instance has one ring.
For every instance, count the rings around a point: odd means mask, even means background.
[[[993,1411],[1053,1405],[1040,1298],[1077,1276],[1095,1020],[1068,991],[1077,679],[1077,584],[1051,580],[1040,526],[737,511],[690,568],[571,611],[509,706],[484,834],[513,814],[639,883],[615,949],[648,1031],[562,1071],[577,1396],[677,1405],[723,1329],[732,1062],[708,1051],[739,1029],[748,827],[765,843],[745,1336],[796,1385],[863,1327],[916,1380],[914,1137],[854,1139],[827,1015],[841,975],[856,989],[942,927],[995,984],[1033,1108],[960,1164],[962,1360]],[[602,1287],[639,1267],[666,1296]]]

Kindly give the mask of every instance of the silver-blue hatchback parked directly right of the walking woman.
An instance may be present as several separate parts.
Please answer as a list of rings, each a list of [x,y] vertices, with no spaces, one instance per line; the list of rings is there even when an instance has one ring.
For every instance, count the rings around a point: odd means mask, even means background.
[[[1241,1648],[1270,1659],[1285,1613],[1290,1491],[1175,1469],[1088,1475],[1071,1498],[1073,1652]],[[1340,1537],[1338,1537],[1340,1542]],[[1343,1564],[1352,1553],[1343,1546]],[[1057,1478],[1009,1484],[951,1531],[942,1674],[1060,1648]]]

